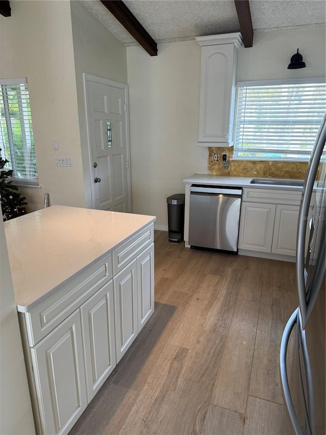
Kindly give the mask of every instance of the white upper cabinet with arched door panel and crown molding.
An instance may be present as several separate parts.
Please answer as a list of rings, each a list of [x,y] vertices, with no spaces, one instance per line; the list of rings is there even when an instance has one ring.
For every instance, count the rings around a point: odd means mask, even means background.
[[[200,146],[232,146],[235,80],[240,33],[200,36]]]

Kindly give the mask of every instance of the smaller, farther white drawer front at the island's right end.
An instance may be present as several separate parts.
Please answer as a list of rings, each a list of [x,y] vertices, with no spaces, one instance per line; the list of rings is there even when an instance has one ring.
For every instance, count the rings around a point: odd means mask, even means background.
[[[113,251],[114,275],[132,262],[147,246],[154,242],[154,224],[147,226]]]

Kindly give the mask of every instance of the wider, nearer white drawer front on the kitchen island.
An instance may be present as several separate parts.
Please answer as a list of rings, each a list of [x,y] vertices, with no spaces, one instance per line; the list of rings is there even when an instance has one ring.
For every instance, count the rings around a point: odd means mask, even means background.
[[[112,278],[112,255],[80,274],[56,294],[25,314],[30,346],[34,346]]]

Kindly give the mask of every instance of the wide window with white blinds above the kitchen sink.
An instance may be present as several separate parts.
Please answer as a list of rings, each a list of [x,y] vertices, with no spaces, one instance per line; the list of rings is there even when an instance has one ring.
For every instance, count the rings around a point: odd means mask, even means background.
[[[326,85],[298,82],[237,84],[235,159],[309,160],[326,111]]]

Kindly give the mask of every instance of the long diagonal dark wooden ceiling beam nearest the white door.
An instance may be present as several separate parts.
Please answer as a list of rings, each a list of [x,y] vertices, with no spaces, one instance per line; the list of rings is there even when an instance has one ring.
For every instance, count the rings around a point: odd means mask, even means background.
[[[141,44],[150,56],[157,56],[157,44],[130,12],[122,0],[101,0],[101,3],[123,25],[134,39]]]

